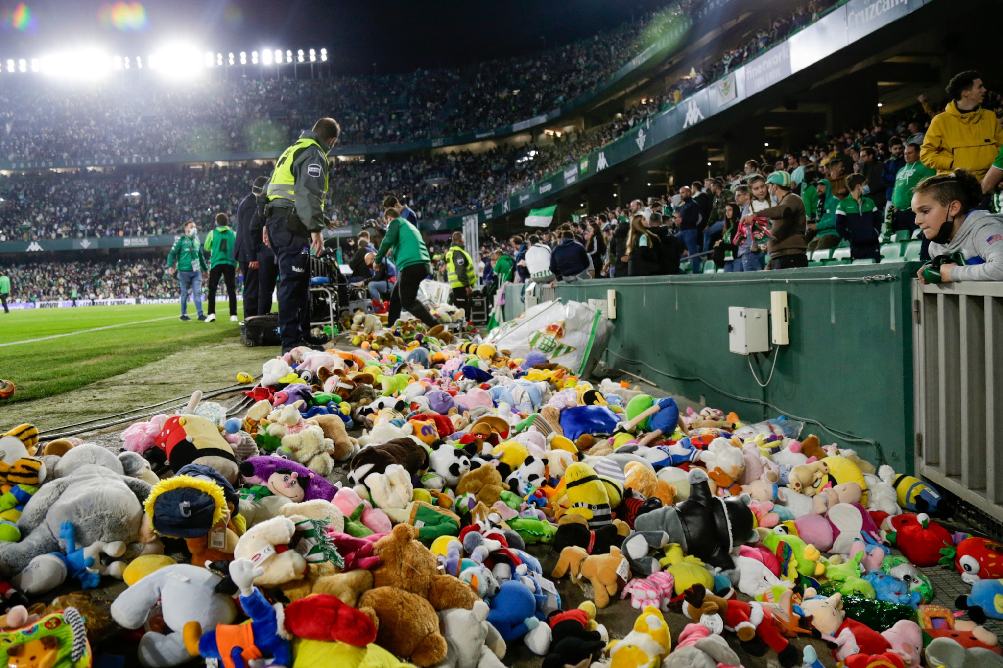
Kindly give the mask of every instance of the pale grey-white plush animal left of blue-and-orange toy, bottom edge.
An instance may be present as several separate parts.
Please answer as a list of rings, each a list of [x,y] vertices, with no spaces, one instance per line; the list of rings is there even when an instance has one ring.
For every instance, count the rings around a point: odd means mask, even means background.
[[[111,604],[111,619],[126,629],[138,629],[160,602],[163,623],[172,633],[150,631],[139,639],[139,663],[146,668],[178,666],[199,656],[204,631],[233,624],[233,598],[216,592],[223,578],[191,564],[166,566],[141,578]]]

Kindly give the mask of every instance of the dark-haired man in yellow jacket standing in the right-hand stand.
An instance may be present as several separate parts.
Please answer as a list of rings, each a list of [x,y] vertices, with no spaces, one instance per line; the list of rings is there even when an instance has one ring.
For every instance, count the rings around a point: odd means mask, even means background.
[[[1003,128],[989,109],[983,109],[986,87],[975,71],[956,74],[947,84],[947,109],[930,122],[920,161],[945,174],[959,167],[981,179],[1003,146]]]

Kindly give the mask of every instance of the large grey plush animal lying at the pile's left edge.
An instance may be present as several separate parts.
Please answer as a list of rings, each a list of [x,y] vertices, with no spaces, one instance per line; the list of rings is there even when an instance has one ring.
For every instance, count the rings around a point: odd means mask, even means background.
[[[65,541],[59,538],[65,522],[73,524],[78,545],[120,541],[126,544],[125,559],[141,552],[143,546],[135,541],[140,533],[142,502],[149,495],[149,484],[123,475],[121,463],[110,453],[108,468],[91,463],[75,468],[66,466],[63,460],[67,458],[70,463],[77,458],[90,460],[85,457],[89,449],[71,457],[80,448],[86,447],[74,448],[61,458],[54,470],[56,477],[42,485],[25,504],[17,521],[24,536],[21,542],[0,543],[0,577],[20,573],[39,555],[65,552]]]

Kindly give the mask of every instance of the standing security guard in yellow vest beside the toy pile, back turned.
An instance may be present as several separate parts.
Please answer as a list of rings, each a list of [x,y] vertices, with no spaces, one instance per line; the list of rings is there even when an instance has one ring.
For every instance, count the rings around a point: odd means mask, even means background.
[[[320,350],[326,337],[310,333],[310,254],[324,248],[320,232],[328,188],[327,152],[338,143],[341,126],[321,118],[304,131],[275,163],[265,186],[263,239],[279,264],[279,326],[282,352],[297,347]]]

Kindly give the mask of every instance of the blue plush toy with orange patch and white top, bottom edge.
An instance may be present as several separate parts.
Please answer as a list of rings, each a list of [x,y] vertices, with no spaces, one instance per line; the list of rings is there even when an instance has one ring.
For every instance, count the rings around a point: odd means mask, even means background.
[[[272,657],[272,664],[293,665],[293,647],[279,614],[254,586],[254,579],[264,575],[249,559],[230,563],[230,577],[241,591],[241,607],[251,618],[250,624],[221,624],[199,639],[199,653],[217,659],[224,666],[247,668],[251,659]]]

